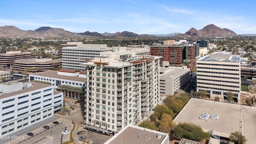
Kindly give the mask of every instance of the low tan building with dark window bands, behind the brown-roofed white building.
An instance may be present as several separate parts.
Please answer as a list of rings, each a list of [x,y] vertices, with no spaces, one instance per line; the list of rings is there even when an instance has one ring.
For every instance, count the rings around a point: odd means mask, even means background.
[[[12,69],[26,72],[42,72],[51,70],[52,68],[58,68],[61,66],[62,59],[52,60],[52,58],[26,58],[14,60]]]

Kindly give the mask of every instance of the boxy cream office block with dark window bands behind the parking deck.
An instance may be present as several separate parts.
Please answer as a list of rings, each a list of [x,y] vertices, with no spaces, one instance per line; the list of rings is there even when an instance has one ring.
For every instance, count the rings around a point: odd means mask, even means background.
[[[240,56],[231,52],[213,52],[196,61],[197,91],[206,90],[210,98],[226,99],[227,92],[240,102]]]

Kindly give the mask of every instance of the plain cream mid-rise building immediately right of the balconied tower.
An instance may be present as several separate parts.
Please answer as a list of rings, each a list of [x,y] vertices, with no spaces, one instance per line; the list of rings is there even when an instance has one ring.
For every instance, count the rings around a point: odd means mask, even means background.
[[[185,67],[160,68],[160,95],[174,95],[190,80],[190,69]]]

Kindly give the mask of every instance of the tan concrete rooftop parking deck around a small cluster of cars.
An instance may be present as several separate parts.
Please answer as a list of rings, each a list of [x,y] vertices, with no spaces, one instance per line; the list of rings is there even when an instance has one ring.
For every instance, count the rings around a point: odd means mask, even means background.
[[[216,114],[219,119],[208,118],[208,122],[199,119],[205,112]],[[192,122],[200,125],[204,130],[213,130],[214,134],[222,136],[229,136],[231,132],[242,132],[247,139],[246,144],[254,144],[256,142],[255,118],[255,107],[191,98],[174,121],[176,123]]]

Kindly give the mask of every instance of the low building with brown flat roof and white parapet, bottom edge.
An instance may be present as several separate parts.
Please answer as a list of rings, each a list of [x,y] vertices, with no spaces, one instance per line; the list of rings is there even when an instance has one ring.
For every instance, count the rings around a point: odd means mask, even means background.
[[[169,144],[169,141],[168,133],[128,125],[104,144]]]

